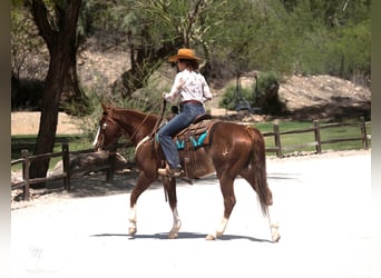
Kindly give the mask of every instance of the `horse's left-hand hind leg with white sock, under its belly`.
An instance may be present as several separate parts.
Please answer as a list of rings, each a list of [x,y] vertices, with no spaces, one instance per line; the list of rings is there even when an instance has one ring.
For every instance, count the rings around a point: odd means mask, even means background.
[[[214,232],[211,232],[209,235],[206,236],[207,240],[214,240],[217,237],[221,237],[225,231],[226,225],[228,222],[228,218],[231,217],[231,214],[236,202],[233,183],[234,183],[234,178],[228,177],[227,175],[219,178],[221,191],[224,197],[224,208],[225,208],[224,217],[221,219],[221,222],[217,229]]]

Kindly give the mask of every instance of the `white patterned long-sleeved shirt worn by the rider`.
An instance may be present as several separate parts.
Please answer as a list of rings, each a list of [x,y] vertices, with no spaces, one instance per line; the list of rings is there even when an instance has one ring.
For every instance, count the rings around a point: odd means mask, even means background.
[[[176,75],[170,91],[164,96],[165,100],[172,102],[179,99],[180,102],[197,100],[202,103],[212,99],[212,97],[211,89],[203,75],[188,69],[184,69]]]

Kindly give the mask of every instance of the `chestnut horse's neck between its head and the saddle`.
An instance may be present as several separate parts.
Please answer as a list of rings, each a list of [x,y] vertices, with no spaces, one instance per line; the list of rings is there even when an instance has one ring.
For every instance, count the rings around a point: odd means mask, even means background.
[[[146,136],[150,135],[157,117],[134,110],[120,110],[114,113],[114,120],[124,129],[134,145],[137,145]]]

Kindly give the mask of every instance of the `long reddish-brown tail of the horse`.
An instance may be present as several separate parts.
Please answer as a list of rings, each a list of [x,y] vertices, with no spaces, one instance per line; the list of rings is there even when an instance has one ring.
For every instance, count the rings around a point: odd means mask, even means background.
[[[254,168],[254,189],[260,199],[262,212],[267,216],[268,206],[273,203],[273,197],[267,186],[265,141],[256,128],[247,127],[247,131],[252,138],[251,167]]]

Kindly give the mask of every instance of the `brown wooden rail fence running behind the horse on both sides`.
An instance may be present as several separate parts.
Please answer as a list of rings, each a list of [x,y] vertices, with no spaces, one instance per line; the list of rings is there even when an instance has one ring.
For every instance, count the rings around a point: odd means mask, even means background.
[[[321,153],[323,149],[323,145],[325,143],[335,143],[335,142],[344,142],[344,141],[359,141],[362,142],[362,148],[368,149],[369,148],[369,140],[371,139],[371,135],[367,132],[367,126],[371,125],[371,122],[365,122],[363,118],[360,118],[360,121],[356,123],[325,123],[320,125],[318,120],[313,121],[313,127],[311,128],[304,128],[304,129],[297,129],[297,130],[291,130],[291,131],[281,131],[277,123],[274,123],[273,131],[272,132],[263,132],[264,137],[274,137],[274,143],[275,147],[273,148],[266,148],[266,152],[276,152],[276,156],[279,158],[283,157],[284,151],[290,150],[300,150],[305,147],[315,147],[315,152]],[[328,129],[328,128],[336,128],[336,127],[359,127],[359,136],[358,137],[351,137],[351,138],[339,138],[339,139],[330,139],[330,140],[322,140],[321,138],[321,130]],[[282,145],[282,136],[284,135],[297,135],[297,133],[305,133],[305,132],[313,132],[314,135],[314,141],[305,142],[302,145],[294,145],[294,146],[283,146]],[[113,151],[109,153],[109,158],[106,165],[98,167],[97,171],[105,170],[106,171],[106,180],[111,181],[114,179],[114,171],[115,171],[115,160],[116,160],[116,151],[118,148],[130,148],[133,147],[130,143],[118,143],[115,146]],[[11,166],[16,163],[22,163],[22,180],[18,182],[11,182],[11,189],[17,188],[23,188],[23,200],[29,200],[30,193],[29,193],[29,187],[32,183],[40,183],[48,180],[56,180],[56,179],[62,179],[63,181],[63,188],[67,191],[70,191],[70,176],[74,172],[84,171],[84,169],[77,169],[77,170],[70,170],[69,165],[69,155],[79,155],[79,153],[90,153],[94,152],[92,149],[87,150],[78,150],[78,151],[69,151],[69,145],[67,142],[62,142],[62,151],[60,152],[52,152],[52,153],[43,153],[38,156],[30,156],[28,150],[21,150],[21,158],[17,160],[11,161]],[[46,178],[33,178],[30,179],[29,177],[29,166],[31,160],[33,159],[43,159],[43,158],[53,158],[53,157],[62,157],[62,173],[55,175]]]

